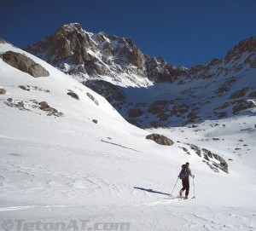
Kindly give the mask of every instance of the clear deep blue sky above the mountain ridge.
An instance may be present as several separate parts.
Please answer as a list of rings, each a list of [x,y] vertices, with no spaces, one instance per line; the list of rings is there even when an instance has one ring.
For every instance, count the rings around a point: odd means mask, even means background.
[[[224,58],[256,36],[255,0],[0,0],[0,38],[17,47],[68,23],[132,38],[143,52],[175,66]]]

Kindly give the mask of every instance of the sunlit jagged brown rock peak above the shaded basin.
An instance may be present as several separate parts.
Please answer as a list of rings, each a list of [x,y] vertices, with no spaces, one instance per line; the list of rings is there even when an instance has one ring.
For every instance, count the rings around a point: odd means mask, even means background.
[[[122,86],[172,82],[184,71],[162,57],[143,55],[131,38],[85,32],[78,23],[61,26],[25,49],[80,80],[107,76],[108,81]]]

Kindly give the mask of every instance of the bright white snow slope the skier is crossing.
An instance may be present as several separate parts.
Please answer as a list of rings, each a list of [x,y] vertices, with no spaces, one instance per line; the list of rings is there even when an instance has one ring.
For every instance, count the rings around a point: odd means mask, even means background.
[[[172,147],[163,147],[145,139],[153,130],[128,124],[102,96],[35,56],[0,43],[0,53],[7,50],[29,56],[50,75],[32,78],[0,59],[0,86],[7,90],[0,95],[1,230],[17,230],[20,219],[66,225],[89,220],[84,230],[99,230],[97,222],[127,222],[130,230],[256,228],[255,117],[218,122],[225,124],[224,130],[211,126],[216,121],[195,129],[154,130],[175,141]],[[79,95],[79,101],[67,95],[68,90]],[[25,109],[9,107],[9,98],[15,104],[22,101]],[[64,115],[48,116],[38,108],[39,101]],[[213,136],[221,140],[209,141]],[[238,139],[251,150],[233,153]],[[180,147],[186,142],[233,159],[228,163],[230,173],[212,171],[190,149],[190,155],[184,153]],[[195,174],[190,196],[195,190],[196,199],[170,199],[180,165],[186,161]],[[178,181],[173,194],[180,188]],[[6,226],[8,220],[13,227]],[[25,222],[22,230],[38,230],[26,229]]]

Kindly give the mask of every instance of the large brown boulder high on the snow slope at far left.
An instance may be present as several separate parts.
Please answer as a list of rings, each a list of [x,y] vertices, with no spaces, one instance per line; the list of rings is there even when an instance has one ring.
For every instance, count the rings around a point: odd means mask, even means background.
[[[49,72],[40,64],[20,53],[7,51],[2,55],[3,61],[14,66],[21,72],[26,72],[34,78],[49,76]]]

